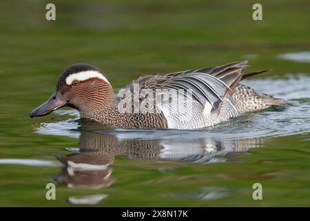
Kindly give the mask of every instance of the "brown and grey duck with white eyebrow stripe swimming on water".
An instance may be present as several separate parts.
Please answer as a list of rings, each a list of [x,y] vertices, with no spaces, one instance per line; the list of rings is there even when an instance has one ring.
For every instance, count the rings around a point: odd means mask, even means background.
[[[114,93],[105,74],[90,64],[74,64],[59,76],[56,90],[30,117],[68,106],[86,122],[115,128],[193,130],[229,119],[285,106],[282,99],[260,93],[240,81],[267,70],[245,74],[247,61],[145,75]]]

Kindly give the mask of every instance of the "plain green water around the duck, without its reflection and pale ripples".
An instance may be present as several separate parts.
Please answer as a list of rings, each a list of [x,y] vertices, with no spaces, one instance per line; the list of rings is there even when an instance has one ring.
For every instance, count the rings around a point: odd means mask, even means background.
[[[53,160],[77,139],[34,133],[41,122],[28,113],[49,97],[61,71],[74,63],[103,70],[114,88],[143,74],[249,60],[249,71],[310,73],[309,63],[278,59],[310,50],[310,2],[260,1],[263,21],[252,19],[256,1],[60,1],[56,21],[45,20],[49,1],[0,2],[0,157]],[[262,77],[268,77],[265,74]],[[272,85],[271,85],[272,86]],[[59,167],[0,165],[0,206],[70,206],[71,195],[105,193],[98,206],[310,206],[309,134],[275,137],[237,163],[185,164],[117,156],[117,182],[100,191],[57,186],[45,200],[45,184]],[[178,166],[169,173],[160,168]],[[263,182],[261,201],[251,186]],[[172,193],[228,188],[218,200]]]

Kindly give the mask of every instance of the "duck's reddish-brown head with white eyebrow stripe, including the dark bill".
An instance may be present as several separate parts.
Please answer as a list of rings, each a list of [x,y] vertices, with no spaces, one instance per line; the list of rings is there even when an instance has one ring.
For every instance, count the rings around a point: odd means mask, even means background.
[[[83,117],[96,113],[113,101],[112,86],[98,68],[89,64],[74,64],[63,71],[50,99],[35,108],[30,117],[48,115],[63,106],[75,108]]]

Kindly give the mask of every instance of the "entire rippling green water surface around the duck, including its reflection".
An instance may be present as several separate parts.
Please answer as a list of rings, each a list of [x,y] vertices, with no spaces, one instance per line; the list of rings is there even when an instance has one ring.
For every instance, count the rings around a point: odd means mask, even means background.
[[[0,3],[0,206],[310,206],[307,1],[268,1],[264,23],[242,1],[55,4],[46,23],[41,3]],[[141,73],[242,59],[248,71],[273,68],[244,84],[289,105],[197,131],[101,128],[69,108],[28,117],[76,62],[118,89]]]

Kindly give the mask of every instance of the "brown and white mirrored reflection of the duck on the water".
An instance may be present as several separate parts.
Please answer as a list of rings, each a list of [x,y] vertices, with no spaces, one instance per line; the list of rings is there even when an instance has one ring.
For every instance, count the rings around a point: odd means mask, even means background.
[[[231,154],[245,153],[249,148],[259,147],[262,138],[242,140],[216,140],[200,133],[170,131],[83,131],[79,150],[70,155],[55,155],[64,166],[55,182],[70,188],[103,189],[115,182],[111,177],[115,155],[130,159],[172,160],[189,163],[225,162]],[[107,195],[90,195],[69,198],[72,204],[96,204]]]

